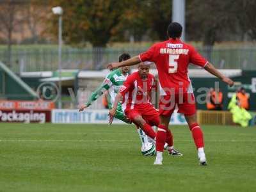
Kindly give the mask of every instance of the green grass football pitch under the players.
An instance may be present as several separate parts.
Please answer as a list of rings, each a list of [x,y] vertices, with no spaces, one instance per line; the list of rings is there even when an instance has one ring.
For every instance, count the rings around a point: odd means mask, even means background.
[[[184,156],[154,166],[134,126],[1,124],[0,191],[256,191],[256,127],[203,126],[208,166],[170,127]]]

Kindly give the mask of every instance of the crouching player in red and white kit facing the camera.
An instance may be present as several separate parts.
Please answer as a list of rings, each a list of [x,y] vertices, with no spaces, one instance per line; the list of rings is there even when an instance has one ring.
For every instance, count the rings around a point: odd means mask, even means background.
[[[134,72],[127,77],[119,93],[116,95],[113,108],[109,111],[110,116],[114,116],[118,102],[123,98],[122,109],[125,115],[134,124],[141,127],[147,136],[156,140],[156,132],[152,126],[157,126],[159,130],[166,131],[164,143],[168,145],[168,152],[173,156],[182,156],[179,151],[173,148],[172,132],[160,125],[159,113],[151,104],[152,92],[156,92],[156,80],[149,74],[149,66],[140,63],[138,72]]]

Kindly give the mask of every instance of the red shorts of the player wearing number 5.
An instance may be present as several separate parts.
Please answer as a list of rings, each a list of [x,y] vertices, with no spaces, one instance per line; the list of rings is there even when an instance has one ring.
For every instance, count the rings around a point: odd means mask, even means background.
[[[163,116],[172,115],[178,106],[178,113],[194,115],[196,113],[195,97],[193,93],[173,94],[160,96],[159,114]]]

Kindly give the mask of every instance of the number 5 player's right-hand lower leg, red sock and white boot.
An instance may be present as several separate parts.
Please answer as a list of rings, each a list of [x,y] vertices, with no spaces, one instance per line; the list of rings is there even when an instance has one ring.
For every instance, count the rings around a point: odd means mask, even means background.
[[[198,150],[198,159],[200,165],[206,165],[206,158],[204,153],[204,135],[200,128],[200,125],[196,122],[196,115],[186,115],[186,121],[188,122],[189,129],[192,133],[196,148]]]

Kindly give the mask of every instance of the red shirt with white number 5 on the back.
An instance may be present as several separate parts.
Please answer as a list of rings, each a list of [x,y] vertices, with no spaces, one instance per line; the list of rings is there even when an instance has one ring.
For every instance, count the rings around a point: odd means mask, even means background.
[[[160,95],[177,94],[181,90],[183,93],[193,93],[188,65],[193,63],[205,67],[208,63],[193,46],[172,38],[152,45],[148,51],[140,54],[140,60],[156,63]]]

